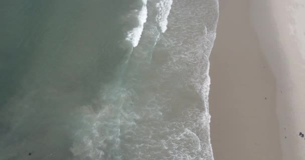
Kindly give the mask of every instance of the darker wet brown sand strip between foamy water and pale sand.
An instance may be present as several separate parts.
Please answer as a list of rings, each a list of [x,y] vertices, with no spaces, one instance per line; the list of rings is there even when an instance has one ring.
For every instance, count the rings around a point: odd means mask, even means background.
[[[211,141],[216,160],[281,159],[276,82],[249,15],[249,0],[219,0],[210,56]]]

